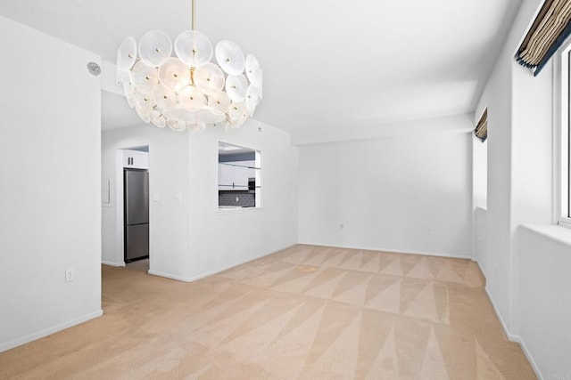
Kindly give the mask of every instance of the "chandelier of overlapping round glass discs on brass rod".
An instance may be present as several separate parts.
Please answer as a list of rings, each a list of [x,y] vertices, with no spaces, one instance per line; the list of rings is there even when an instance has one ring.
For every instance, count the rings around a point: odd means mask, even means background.
[[[117,82],[145,123],[175,131],[238,128],[261,100],[260,64],[252,54],[244,58],[228,40],[213,49],[194,29],[195,14],[192,0],[192,30],[179,34],[174,44],[162,30],[146,32],[138,46],[134,37],[125,38],[117,50]],[[218,64],[211,62],[213,55]]]

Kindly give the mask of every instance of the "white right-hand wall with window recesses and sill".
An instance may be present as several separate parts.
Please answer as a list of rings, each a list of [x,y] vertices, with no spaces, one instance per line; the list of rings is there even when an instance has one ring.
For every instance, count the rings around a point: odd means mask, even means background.
[[[524,0],[485,86],[488,107],[487,291],[510,339],[522,344],[539,376],[571,374],[568,253],[571,231],[550,225],[553,212],[552,66],[538,77],[514,53],[542,5]],[[476,113],[478,110],[476,109]],[[534,227],[520,227],[534,223]],[[537,227],[539,225],[539,227]],[[478,227],[481,230],[481,227]],[[560,243],[565,236],[567,243]]]

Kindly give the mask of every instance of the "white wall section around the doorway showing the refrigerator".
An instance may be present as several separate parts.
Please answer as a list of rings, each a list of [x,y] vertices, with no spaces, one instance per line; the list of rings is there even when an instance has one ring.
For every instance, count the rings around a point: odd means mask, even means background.
[[[152,271],[186,278],[188,268],[188,141],[186,133],[136,125],[102,133],[102,177],[112,199],[102,207],[103,263],[124,265],[122,159],[118,150],[149,147],[149,264]],[[119,151],[119,154],[121,152]],[[180,194],[182,201],[177,201]],[[156,197],[158,196],[158,200]]]

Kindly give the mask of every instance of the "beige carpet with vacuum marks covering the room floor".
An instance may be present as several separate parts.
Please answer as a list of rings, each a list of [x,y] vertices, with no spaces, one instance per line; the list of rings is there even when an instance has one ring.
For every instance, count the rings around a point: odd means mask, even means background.
[[[103,317],[0,378],[535,378],[483,286],[468,260],[312,246],[190,284],[103,266]]]

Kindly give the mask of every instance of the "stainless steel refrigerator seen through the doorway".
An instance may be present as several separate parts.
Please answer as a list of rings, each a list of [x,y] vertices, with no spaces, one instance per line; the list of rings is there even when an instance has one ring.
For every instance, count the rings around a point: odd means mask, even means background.
[[[149,257],[149,173],[123,170],[125,263]]]

